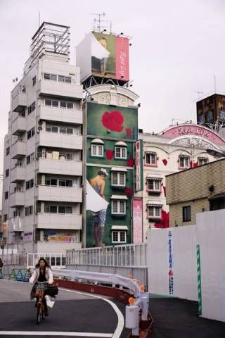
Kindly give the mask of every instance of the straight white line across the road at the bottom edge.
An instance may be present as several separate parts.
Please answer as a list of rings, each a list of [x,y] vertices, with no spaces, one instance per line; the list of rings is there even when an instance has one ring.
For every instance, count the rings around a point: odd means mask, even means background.
[[[112,333],[92,332],[54,332],[54,331],[0,331],[0,334],[12,336],[68,336],[68,337],[113,337]]]

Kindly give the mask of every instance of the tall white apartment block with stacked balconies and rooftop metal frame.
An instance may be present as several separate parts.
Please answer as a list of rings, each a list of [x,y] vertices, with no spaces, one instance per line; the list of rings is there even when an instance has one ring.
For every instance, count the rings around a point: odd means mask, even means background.
[[[19,252],[81,248],[82,96],[70,27],[43,23],[11,92],[4,142],[2,237]]]

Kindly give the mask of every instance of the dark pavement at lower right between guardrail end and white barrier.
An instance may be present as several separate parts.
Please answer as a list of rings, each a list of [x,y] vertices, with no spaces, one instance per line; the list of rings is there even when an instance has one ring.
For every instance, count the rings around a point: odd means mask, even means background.
[[[225,323],[198,316],[198,303],[150,295],[151,338],[225,338]]]

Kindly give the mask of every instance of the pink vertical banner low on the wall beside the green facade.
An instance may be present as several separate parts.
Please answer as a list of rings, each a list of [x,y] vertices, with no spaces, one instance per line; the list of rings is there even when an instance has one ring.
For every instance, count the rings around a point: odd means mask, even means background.
[[[133,243],[142,243],[142,199],[132,200]]]

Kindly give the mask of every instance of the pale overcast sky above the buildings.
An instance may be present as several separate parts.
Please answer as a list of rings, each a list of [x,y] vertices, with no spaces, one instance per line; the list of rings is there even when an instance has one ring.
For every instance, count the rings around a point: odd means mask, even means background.
[[[75,46],[105,12],[113,32],[131,39],[131,88],[140,96],[139,127],[160,132],[172,119],[195,120],[197,92],[225,92],[224,0],[0,0],[0,173],[13,78],[19,80],[41,22],[70,25]],[[107,24],[107,23],[106,23]]]

